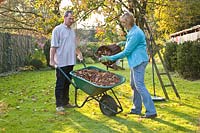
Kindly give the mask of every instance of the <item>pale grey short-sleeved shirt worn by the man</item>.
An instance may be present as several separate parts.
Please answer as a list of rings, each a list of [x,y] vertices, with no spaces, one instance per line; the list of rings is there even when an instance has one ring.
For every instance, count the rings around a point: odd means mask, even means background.
[[[59,67],[76,63],[76,36],[73,29],[60,24],[53,29],[51,47],[55,47],[55,61]]]

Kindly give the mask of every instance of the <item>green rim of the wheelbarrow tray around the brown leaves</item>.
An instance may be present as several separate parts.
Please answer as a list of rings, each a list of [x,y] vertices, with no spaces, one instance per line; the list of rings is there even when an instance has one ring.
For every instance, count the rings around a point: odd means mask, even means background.
[[[78,70],[75,70],[75,71],[71,71],[71,72],[70,72],[70,75],[72,75],[72,79],[75,77],[75,78],[77,78],[77,79],[79,79],[79,80],[83,80],[84,82],[93,85],[94,87],[97,87],[97,88],[105,88],[105,89],[109,89],[109,88],[116,87],[116,86],[118,86],[118,85],[120,85],[120,84],[122,84],[122,83],[124,83],[124,82],[126,81],[125,77],[123,77],[123,76],[121,76],[121,75],[119,75],[119,74],[115,74],[115,73],[112,73],[112,72],[111,72],[112,74],[114,74],[114,75],[116,75],[116,76],[118,76],[118,77],[120,78],[120,82],[118,82],[118,83],[116,83],[116,84],[114,84],[114,85],[111,85],[111,86],[97,85],[97,84],[95,84],[95,83],[92,83],[92,82],[90,82],[90,81],[88,81],[88,80],[86,80],[86,79],[84,79],[84,78],[81,78],[81,77],[75,75],[76,71],[83,70],[83,69],[96,69],[96,70],[100,70],[100,71],[107,72],[107,70],[104,70],[104,69],[101,69],[101,68],[98,68],[98,67],[95,67],[95,66],[88,66],[88,67],[85,67],[85,68],[82,68],[82,69],[78,69]]]

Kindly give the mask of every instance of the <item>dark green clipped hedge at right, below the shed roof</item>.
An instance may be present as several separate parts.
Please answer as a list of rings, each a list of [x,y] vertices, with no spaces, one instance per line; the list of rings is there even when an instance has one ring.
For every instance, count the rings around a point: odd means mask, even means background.
[[[164,60],[169,71],[177,71],[183,78],[200,79],[200,43],[166,44]]]

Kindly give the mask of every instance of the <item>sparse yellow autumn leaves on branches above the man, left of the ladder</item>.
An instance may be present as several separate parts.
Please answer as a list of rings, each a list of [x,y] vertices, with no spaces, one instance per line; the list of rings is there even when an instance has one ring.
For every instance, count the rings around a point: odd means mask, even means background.
[[[2,23],[1,29],[10,32],[15,32],[17,29],[17,31],[23,31],[21,33],[24,34],[32,32],[37,35],[47,36],[55,25],[61,22],[61,13],[63,11],[59,8],[60,2],[60,0],[4,1],[0,6],[0,11],[2,11],[0,15],[2,16],[2,22],[4,22]],[[129,7],[129,4],[123,1],[72,0],[72,2],[73,6],[67,7],[67,9],[74,11],[77,22],[87,19],[92,13],[102,13],[105,16],[105,24],[100,24],[99,27],[104,29],[105,35],[118,33],[116,25],[119,24],[119,16],[121,13],[125,10],[134,13],[133,7]],[[135,2],[140,4],[137,1]],[[141,5],[146,5],[145,3],[146,1],[143,1]],[[133,3],[131,4],[133,5]],[[140,15],[137,14],[137,16]],[[8,22],[10,23],[6,23],[7,21],[5,20],[9,20]],[[13,23],[14,21],[15,23]],[[112,39],[111,37],[108,38]]]

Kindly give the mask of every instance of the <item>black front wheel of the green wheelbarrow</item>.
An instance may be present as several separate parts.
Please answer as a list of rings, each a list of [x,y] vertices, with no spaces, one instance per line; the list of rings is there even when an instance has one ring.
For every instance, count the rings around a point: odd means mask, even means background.
[[[109,95],[104,95],[101,98],[99,106],[104,115],[114,116],[117,114],[117,103]]]

